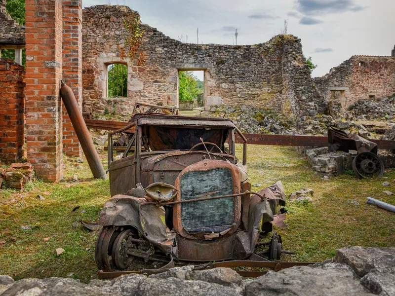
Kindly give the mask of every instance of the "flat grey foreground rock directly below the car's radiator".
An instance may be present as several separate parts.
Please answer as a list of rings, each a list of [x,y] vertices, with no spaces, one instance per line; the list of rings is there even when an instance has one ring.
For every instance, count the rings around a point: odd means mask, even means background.
[[[192,272],[190,279],[233,287],[240,286],[243,278],[233,269],[218,267]]]

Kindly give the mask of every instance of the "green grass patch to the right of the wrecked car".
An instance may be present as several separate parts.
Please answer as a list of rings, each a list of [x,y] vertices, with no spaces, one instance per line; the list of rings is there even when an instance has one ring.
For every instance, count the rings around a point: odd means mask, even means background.
[[[241,147],[237,149],[241,158]],[[368,196],[395,205],[395,172],[384,174],[388,179],[359,180],[351,174],[322,180],[307,161],[293,148],[275,146],[248,147],[248,176],[258,191],[281,180],[287,198],[291,192],[314,189],[313,203],[290,203],[285,223],[287,228],[276,228],[283,248],[295,255],[282,255],[282,260],[322,261],[333,258],[335,250],[343,247],[394,247],[395,214],[367,205]],[[382,183],[389,181],[390,187]],[[261,240],[268,238],[261,237]]]

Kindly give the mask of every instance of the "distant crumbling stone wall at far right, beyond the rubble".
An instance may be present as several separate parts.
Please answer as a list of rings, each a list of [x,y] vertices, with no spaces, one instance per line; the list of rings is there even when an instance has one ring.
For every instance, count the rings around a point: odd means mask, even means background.
[[[395,57],[353,56],[314,81],[334,112],[345,111],[356,101],[395,93]]]

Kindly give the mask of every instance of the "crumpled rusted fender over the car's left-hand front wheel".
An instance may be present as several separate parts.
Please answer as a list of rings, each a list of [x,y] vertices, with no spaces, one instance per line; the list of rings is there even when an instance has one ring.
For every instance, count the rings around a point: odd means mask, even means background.
[[[145,198],[115,195],[106,201],[100,212],[99,224],[102,226],[133,226],[148,241],[166,254],[171,254],[175,233],[166,231],[165,211],[153,204],[144,205]]]

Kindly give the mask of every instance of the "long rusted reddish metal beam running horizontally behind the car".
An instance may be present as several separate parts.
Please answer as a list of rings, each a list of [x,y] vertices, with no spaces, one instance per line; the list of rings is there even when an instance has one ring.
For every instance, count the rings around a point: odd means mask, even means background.
[[[127,126],[128,122],[107,121],[85,119],[89,128],[117,130],[123,126]],[[127,131],[129,132],[129,131]],[[132,132],[132,131],[130,131]],[[276,146],[311,146],[311,147],[327,147],[328,137],[322,136],[290,136],[290,135],[260,135],[260,134],[244,134],[248,144],[252,145],[276,145]],[[244,140],[235,133],[235,141],[237,144],[243,144]],[[374,140],[379,149],[395,149],[395,141]]]

